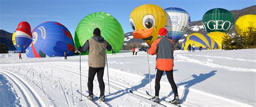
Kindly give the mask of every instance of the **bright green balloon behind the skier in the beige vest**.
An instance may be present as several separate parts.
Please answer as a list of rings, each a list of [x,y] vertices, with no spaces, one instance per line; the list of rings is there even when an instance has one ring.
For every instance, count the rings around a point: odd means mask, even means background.
[[[105,12],[92,13],[80,21],[75,32],[76,47],[83,46],[93,36],[93,30],[97,27],[102,37],[118,53],[124,44],[124,31],[117,19]]]

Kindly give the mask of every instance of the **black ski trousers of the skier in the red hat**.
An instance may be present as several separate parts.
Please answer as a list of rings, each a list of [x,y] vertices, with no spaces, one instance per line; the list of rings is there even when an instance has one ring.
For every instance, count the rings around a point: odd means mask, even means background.
[[[156,73],[156,84],[154,86],[154,89],[155,89],[155,96],[159,96],[159,90],[160,90],[160,80],[161,80],[161,77],[163,75],[164,71],[163,70],[159,70],[157,69],[157,73]],[[165,72],[166,73],[166,76],[167,76],[167,79],[169,81],[169,83],[171,84],[171,87],[172,87],[172,91],[174,93],[174,96],[178,96],[178,90],[177,90],[177,85],[176,83],[174,82],[173,80],[173,70],[170,70],[170,71],[167,71]]]

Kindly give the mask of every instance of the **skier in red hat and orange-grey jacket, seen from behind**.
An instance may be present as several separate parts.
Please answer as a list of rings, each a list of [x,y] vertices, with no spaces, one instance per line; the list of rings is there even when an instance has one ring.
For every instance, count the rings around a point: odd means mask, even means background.
[[[152,98],[152,101],[159,102],[159,90],[160,90],[160,80],[163,73],[166,73],[167,79],[171,84],[172,91],[174,93],[174,99],[170,101],[174,104],[179,104],[179,96],[177,85],[173,80],[173,52],[174,52],[174,44],[173,41],[166,37],[167,30],[162,27],[158,31],[160,37],[155,40],[147,52],[150,55],[157,55],[156,61],[156,81],[155,81],[155,96]]]

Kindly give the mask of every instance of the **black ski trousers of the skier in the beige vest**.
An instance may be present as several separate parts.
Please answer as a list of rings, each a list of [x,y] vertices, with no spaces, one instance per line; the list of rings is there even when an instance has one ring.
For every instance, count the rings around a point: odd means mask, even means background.
[[[89,67],[88,83],[87,83],[88,89],[89,89],[89,94],[93,95],[93,80],[97,73],[99,89],[100,89],[100,96],[104,95],[104,92],[105,92],[105,84],[103,81],[104,68],[105,67],[100,67],[100,68]]]

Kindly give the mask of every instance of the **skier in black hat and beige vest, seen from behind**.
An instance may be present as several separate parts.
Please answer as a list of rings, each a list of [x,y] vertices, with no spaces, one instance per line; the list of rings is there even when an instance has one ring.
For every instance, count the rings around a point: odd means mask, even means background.
[[[89,74],[87,83],[89,96],[87,98],[91,101],[93,100],[93,80],[97,73],[100,89],[99,100],[105,102],[105,83],[103,81],[103,75],[106,64],[106,49],[107,51],[111,51],[112,46],[102,38],[99,28],[95,28],[92,38],[88,39],[82,47],[78,47],[79,52],[85,53],[89,51]]]

